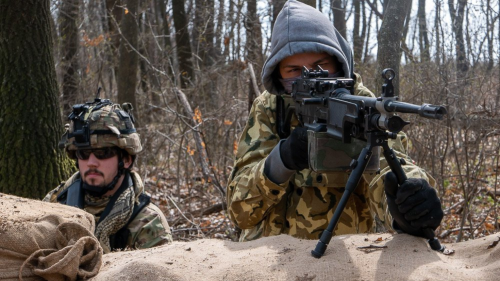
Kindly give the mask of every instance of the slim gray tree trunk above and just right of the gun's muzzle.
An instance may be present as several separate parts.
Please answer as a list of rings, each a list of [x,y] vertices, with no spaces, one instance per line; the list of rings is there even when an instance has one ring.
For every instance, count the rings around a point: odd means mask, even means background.
[[[467,0],[458,0],[457,8],[453,0],[448,0],[448,7],[450,10],[450,17],[452,23],[453,33],[455,34],[455,50],[457,55],[457,78],[458,80],[464,80],[467,77],[467,71],[469,70],[469,64],[467,63],[467,57],[465,56],[465,42],[464,42],[464,13],[465,6],[467,5]]]

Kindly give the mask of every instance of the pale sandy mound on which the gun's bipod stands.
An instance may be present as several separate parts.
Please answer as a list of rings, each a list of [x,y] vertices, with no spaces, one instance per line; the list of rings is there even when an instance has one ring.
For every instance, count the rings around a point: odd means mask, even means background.
[[[92,280],[495,280],[498,240],[446,244],[455,250],[446,256],[409,235],[346,235],[316,259],[310,253],[317,241],[286,235],[245,243],[204,239],[104,255]],[[376,247],[359,248],[370,245]]]

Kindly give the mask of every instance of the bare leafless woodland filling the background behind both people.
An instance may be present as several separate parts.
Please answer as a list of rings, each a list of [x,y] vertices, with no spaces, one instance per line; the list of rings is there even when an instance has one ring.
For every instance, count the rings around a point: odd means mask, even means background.
[[[174,238],[237,239],[226,180],[271,29],[285,1],[0,0],[0,191],[42,198],[74,171],[57,148],[71,106],[131,102],[136,169]],[[500,1],[303,1],[352,44],[375,93],[380,71],[445,120],[405,116],[410,156],[435,176],[444,241],[499,230]]]

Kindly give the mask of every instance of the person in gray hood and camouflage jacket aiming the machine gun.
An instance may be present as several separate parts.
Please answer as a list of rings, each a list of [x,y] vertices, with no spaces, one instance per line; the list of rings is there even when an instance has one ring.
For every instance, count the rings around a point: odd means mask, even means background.
[[[330,20],[308,5],[286,2],[276,19],[271,54],[262,71],[267,91],[252,105],[228,181],[228,212],[242,229],[241,241],[279,234],[318,239],[349,177],[347,171],[317,173],[309,169],[307,131],[300,127],[296,116],[285,124],[285,131],[291,132],[288,135],[277,128],[282,118],[277,108],[286,108],[292,102],[288,93],[303,66],[321,66],[330,77],[352,78],[354,94],[374,96],[354,73],[352,50]],[[417,236],[422,236],[423,228],[439,226],[443,218],[441,203],[429,185],[435,183],[434,179],[405,154],[404,134],[390,146],[408,163],[403,168],[409,180],[399,190],[409,191],[402,195],[398,192],[394,198],[385,196],[385,175],[393,174],[381,160],[379,174],[363,175],[335,235],[372,232],[375,217],[387,229]]]

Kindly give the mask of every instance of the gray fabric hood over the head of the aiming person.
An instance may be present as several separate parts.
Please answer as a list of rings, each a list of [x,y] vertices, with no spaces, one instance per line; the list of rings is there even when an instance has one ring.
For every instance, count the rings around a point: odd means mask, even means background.
[[[271,54],[262,68],[262,83],[271,94],[283,86],[273,72],[279,62],[299,53],[325,52],[337,57],[346,77],[354,78],[352,49],[326,15],[304,3],[289,0],[276,18],[271,35]]]

